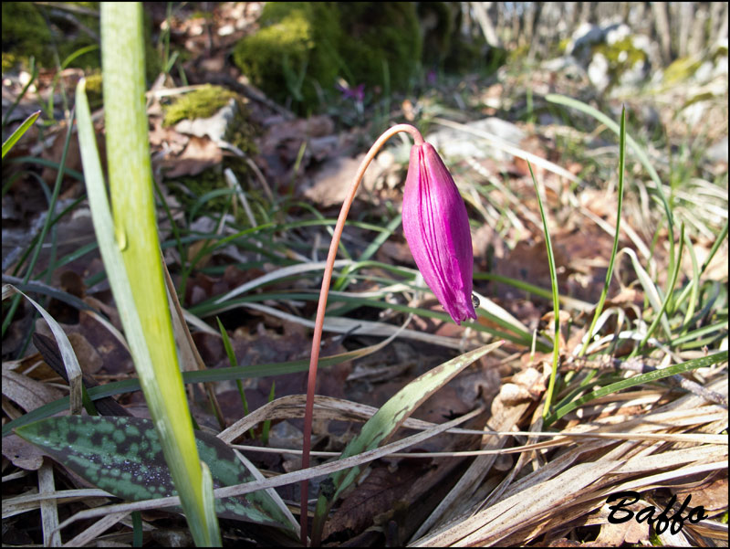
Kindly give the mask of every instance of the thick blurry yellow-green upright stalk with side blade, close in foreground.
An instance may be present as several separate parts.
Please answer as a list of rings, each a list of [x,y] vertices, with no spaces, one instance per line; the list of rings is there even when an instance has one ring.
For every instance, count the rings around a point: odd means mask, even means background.
[[[140,3],[102,3],[104,112],[114,211],[111,230],[83,81],[76,97],[78,110],[83,111],[79,143],[99,250],[193,539],[197,545],[220,545],[214,507],[205,504],[213,496],[203,498],[203,470],[162,278],[144,102],[142,28]]]

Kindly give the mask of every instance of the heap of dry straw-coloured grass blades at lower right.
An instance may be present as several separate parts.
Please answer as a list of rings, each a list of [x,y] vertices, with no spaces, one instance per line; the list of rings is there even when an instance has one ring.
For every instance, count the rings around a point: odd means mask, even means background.
[[[726,396],[727,375],[709,388]],[[499,397],[495,399],[493,409],[495,406],[500,406]],[[709,441],[704,444],[656,439],[656,436],[677,433],[718,433],[727,428],[725,408],[708,405],[703,398],[694,395],[682,396],[664,406],[652,406],[650,404],[639,414],[622,414],[619,408],[590,422],[583,418],[575,426],[564,429],[564,434],[621,431],[638,437],[618,446],[610,439],[579,441],[555,452],[547,462],[537,454],[539,466],[527,474],[519,470],[526,465],[520,459],[516,470],[507,474],[512,480],[501,486],[499,497],[484,501],[484,494],[474,483],[457,483],[454,493],[446,498],[454,504],[441,509],[439,516],[432,517],[427,528],[422,528],[410,545],[509,546],[534,542],[541,535],[548,536],[543,542],[549,543],[554,541],[550,536],[565,535],[572,527],[608,524],[606,498],[611,493],[692,486],[698,474],[712,475],[717,471],[726,474],[726,438],[708,437]],[[473,474],[470,469],[464,478],[471,479],[469,475]],[[480,474],[484,477],[486,471]],[[703,535],[719,536],[726,541],[726,530],[717,533],[713,526],[711,521],[685,522],[683,531],[673,538],[673,543],[706,544],[708,542],[701,539]]]

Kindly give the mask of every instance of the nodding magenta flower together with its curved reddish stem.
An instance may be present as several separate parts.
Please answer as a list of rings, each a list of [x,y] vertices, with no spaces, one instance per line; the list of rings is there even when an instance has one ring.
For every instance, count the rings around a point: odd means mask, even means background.
[[[342,236],[349,208],[352,206],[365,170],[375,154],[381,150],[382,145],[398,132],[407,132],[413,138],[402,209],[403,233],[411,248],[413,259],[422,273],[423,280],[454,322],[460,324],[466,319],[476,319],[472,301],[474,251],[464,200],[459,195],[454,178],[449,174],[433,145],[425,143],[421,132],[412,125],[397,124],[378,138],[360,164],[358,172],[349,186],[348,195],[342,203],[342,209],[332,235],[322,287],[319,291],[317,318],[309,359],[302,469],[309,467],[319,346],[322,340],[329,283],[332,280],[339,238]],[[301,483],[300,528],[302,544],[305,545],[308,530],[307,503],[308,480],[303,480]]]

